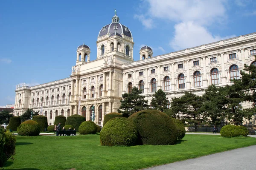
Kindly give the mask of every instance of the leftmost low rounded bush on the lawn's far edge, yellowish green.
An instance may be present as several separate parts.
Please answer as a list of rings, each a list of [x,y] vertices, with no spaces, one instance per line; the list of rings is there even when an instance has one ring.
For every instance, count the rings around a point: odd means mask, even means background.
[[[34,120],[27,120],[17,127],[17,133],[20,136],[38,136],[40,133],[40,126]]]

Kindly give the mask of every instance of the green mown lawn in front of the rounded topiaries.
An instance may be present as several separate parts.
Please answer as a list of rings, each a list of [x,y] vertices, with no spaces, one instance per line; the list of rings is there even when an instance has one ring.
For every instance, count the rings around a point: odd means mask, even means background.
[[[188,134],[176,145],[104,147],[100,145],[99,135],[17,136],[15,160],[7,161],[4,168],[134,170],[255,144],[256,138],[251,137]]]

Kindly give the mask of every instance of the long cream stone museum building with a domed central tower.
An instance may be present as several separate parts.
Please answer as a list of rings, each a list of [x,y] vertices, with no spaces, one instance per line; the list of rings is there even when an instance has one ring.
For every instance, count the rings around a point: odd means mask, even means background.
[[[80,114],[103,125],[105,114],[117,112],[122,94],[132,87],[150,103],[158,89],[166,96],[180,97],[185,91],[204,94],[209,85],[230,85],[239,79],[244,64],[256,65],[256,33],[212,42],[193,48],[153,56],[150,47],[140,48],[140,60],[134,61],[134,40],[131,30],[120,23],[115,14],[103,26],[97,38],[97,58],[90,61],[90,47],[76,50],[76,65],[70,77],[32,87],[16,87],[15,116],[28,108],[40,111],[53,125],[55,116]],[[253,125],[255,119],[251,120]]]

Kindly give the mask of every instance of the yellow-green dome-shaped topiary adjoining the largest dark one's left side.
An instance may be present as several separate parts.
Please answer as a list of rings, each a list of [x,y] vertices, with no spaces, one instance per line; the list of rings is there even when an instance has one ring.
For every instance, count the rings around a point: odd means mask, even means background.
[[[100,133],[100,143],[103,146],[134,146],[137,140],[136,127],[125,117],[109,120]]]

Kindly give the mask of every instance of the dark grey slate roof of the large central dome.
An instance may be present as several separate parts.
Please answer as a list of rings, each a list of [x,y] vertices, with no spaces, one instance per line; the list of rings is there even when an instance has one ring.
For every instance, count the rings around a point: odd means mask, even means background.
[[[115,25],[117,26],[116,30],[114,29]],[[105,28],[105,31],[103,28]],[[106,34],[112,34],[115,32],[119,34],[124,34],[128,37],[132,37],[130,29],[120,23],[111,23],[104,26],[103,28],[101,28],[101,30],[99,31],[99,37],[104,36]]]

